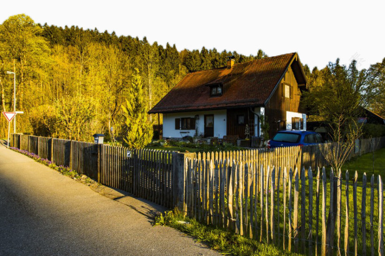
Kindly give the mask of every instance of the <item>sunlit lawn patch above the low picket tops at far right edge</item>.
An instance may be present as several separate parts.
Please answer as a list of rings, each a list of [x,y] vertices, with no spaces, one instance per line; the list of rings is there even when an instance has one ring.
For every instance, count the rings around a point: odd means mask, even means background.
[[[385,178],[385,148],[374,151],[374,173],[373,173],[373,154],[366,153],[361,156],[355,157],[352,160],[345,162],[341,170],[349,170],[352,175],[357,170],[358,176],[362,178],[362,175],[366,172],[368,179],[374,174],[381,175],[381,178]]]

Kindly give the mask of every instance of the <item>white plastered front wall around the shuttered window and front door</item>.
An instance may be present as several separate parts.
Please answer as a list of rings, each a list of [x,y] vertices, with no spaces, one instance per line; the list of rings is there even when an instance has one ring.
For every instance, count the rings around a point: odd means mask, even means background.
[[[223,136],[226,135],[226,110],[165,113],[163,114],[163,138],[182,138],[187,135],[194,137],[196,132],[195,130],[175,130],[175,118],[194,118],[196,115],[199,115],[199,119],[196,120],[198,135],[203,135],[205,132],[205,115],[210,114],[214,115],[214,136],[223,138]]]

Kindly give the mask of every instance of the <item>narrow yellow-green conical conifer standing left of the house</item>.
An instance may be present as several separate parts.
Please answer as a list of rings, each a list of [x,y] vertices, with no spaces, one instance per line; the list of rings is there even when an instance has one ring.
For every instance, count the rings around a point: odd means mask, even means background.
[[[143,97],[142,79],[139,70],[132,76],[132,87],[127,106],[122,106],[126,117],[127,135],[124,141],[130,148],[143,148],[151,142],[152,127],[147,120],[147,106]]]

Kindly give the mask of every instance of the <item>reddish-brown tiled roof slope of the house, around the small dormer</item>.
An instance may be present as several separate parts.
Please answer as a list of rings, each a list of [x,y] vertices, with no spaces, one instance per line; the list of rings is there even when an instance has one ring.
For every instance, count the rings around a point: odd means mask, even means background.
[[[296,53],[188,73],[148,113],[262,106]],[[210,97],[209,84],[222,83],[223,95]]]

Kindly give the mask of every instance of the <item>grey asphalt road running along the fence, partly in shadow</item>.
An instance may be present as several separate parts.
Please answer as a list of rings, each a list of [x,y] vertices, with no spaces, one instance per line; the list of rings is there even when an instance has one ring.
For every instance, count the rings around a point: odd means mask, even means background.
[[[115,200],[0,145],[0,255],[218,254],[153,227],[161,206],[111,195]]]

